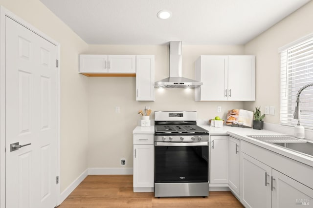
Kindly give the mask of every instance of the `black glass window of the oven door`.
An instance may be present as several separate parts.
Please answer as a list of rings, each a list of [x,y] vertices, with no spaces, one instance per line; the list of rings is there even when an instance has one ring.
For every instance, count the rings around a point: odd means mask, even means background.
[[[156,183],[208,182],[208,146],[155,146]]]

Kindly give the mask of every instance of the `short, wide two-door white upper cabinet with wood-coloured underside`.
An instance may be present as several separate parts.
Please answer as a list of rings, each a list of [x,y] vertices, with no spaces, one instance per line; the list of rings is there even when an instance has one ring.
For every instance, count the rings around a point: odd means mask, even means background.
[[[136,55],[80,55],[82,74],[135,74]]]

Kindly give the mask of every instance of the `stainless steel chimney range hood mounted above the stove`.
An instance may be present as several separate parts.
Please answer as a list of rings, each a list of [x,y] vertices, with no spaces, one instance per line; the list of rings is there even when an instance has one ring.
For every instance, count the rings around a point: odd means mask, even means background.
[[[195,88],[201,82],[181,77],[181,41],[170,42],[170,77],[155,82],[155,88]]]

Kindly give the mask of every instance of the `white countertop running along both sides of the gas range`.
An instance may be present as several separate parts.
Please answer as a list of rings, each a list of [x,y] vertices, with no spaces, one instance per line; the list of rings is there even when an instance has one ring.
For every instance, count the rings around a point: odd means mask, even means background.
[[[244,140],[246,142],[252,143],[254,145],[266,148],[270,151],[273,151],[275,153],[284,155],[288,158],[291,158],[293,160],[296,160],[300,163],[313,166],[313,157],[306,156],[294,151],[291,151],[289,149],[271,145],[266,142],[262,142],[257,139],[253,139],[251,137],[247,137],[247,135],[286,135],[283,133],[278,133],[275,131],[269,131],[269,130],[257,130],[253,128],[243,128],[243,127],[236,127],[236,126],[226,126],[224,125],[223,127],[211,127],[209,125],[199,125],[202,128],[205,128],[209,131],[210,135],[219,135],[219,134],[225,134],[229,136],[233,136],[235,138]],[[133,134],[154,134],[155,132],[155,126],[136,126]]]

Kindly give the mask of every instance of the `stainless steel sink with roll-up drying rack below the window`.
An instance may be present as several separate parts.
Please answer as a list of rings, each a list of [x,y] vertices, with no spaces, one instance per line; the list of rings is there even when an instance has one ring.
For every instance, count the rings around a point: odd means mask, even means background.
[[[291,151],[313,157],[313,143],[303,139],[297,139],[289,135],[247,135],[272,145],[280,146]]]

